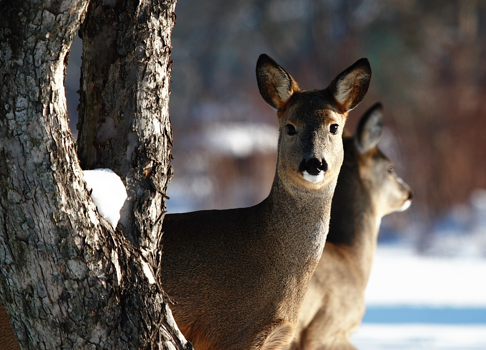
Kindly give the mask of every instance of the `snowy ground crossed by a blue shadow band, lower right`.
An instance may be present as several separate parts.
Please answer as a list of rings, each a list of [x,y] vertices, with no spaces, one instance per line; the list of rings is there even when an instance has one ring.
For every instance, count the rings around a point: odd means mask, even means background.
[[[359,350],[486,350],[486,259],[379,245],[366,302]]]

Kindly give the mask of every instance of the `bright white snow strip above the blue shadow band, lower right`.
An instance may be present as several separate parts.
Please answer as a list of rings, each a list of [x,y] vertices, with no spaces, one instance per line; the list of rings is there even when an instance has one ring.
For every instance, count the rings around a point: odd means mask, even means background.
[[[486,259],[414,255],[378,246],[366,288],[368,305],[486,306]]]

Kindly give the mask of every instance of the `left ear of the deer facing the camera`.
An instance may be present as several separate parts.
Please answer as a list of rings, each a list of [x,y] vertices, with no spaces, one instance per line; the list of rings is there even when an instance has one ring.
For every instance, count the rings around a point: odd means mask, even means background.
[[[285,105],[299,89],[292,75],[266,54],[257,61],[257,83],[263,100],[275,109]]]

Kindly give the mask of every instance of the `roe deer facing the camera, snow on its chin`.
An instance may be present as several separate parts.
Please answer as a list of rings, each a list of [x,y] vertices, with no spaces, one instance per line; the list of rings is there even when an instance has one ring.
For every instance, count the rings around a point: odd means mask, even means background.
[[[270,194],[249,208],[169,214],[162,227],[160,281],[196,350],[281,349],[292,341],[329,229],[343,126],[371,77],[362,58],[328,88],[301,90],[265,54],[256,73],[279,123]]]

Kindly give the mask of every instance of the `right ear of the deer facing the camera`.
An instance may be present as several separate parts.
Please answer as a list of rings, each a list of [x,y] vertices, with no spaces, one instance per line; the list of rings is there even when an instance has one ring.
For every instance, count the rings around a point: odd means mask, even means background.
[[[344,111],[350,111],[363,100],[371,79],[371,67],[367,58],[356,61],[339,74],[329,85],[332,96]]]

